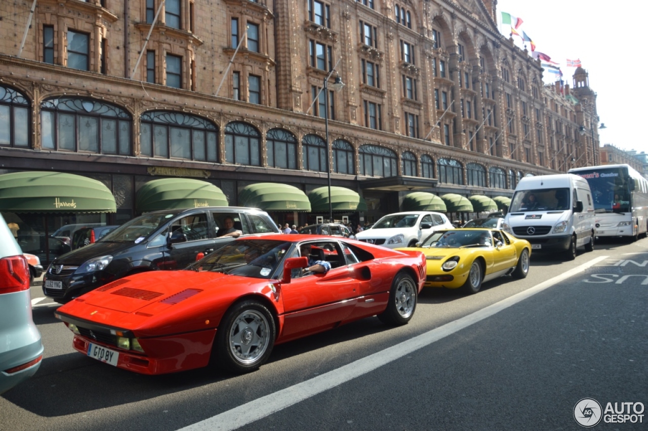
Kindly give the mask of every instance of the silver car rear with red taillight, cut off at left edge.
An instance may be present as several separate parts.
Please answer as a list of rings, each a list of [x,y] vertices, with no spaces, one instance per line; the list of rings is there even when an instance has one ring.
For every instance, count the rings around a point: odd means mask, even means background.
[[[0,215],[0,393],[32,377],[42,359],[27,259]]]

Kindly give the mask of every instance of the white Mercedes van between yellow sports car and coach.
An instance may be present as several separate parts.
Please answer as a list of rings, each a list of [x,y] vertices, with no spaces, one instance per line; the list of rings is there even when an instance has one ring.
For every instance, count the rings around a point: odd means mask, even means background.
[[[505,221],[534,251],[594,250],[594,204],[586,180],[574,174],[525,177],[515,188]]]

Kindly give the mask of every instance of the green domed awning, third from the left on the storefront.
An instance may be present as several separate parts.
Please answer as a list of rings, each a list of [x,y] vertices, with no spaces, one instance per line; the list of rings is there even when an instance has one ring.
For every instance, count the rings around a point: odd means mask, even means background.
[[[238,204],[264,211],[310,212],[306,194],[288,184],[250,184],[238,194]]]

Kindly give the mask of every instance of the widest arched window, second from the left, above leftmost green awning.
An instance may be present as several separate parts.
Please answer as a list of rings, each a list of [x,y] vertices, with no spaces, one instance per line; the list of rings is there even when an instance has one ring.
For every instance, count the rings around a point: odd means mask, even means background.
[[[130,114],[80,97],[41,102],[41,145],[56,151],[131,154]]]

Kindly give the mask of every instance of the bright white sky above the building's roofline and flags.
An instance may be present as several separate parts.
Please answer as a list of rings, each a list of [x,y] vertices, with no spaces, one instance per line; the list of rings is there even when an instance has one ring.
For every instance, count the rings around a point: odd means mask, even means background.
[[[596,91],[596,107],[605,129],[599,130],[601,145],[648,153],[648,84],[643,50],[648,16],[644,1],[600,0],[498,0],[498,24],[502,12],[522,21],[522,30],[544,52],[561,65],[563,79],[573,87],[575,68],[566,59],[580,59]],[[636,19],[632,18],[636,17]],[[500,31],[506,36],[509,25]],[[522,40],[513,36],[516,45]],[[527,45],[529,54],[530,45]],[[644,63],[645,62],[645,63]],[[633,76],[636,71],[636,76]],[[544,82],[555,81],[543,73]],[[599,124],[600,126],[600,124]]]

